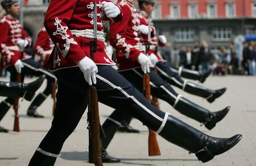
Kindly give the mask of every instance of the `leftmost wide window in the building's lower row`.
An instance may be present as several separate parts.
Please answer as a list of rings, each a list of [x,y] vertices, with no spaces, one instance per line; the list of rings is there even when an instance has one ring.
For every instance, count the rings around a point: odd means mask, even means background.
[[[193,42],[196,31],[193,28],[177,28],[174,32],[177,42]]]

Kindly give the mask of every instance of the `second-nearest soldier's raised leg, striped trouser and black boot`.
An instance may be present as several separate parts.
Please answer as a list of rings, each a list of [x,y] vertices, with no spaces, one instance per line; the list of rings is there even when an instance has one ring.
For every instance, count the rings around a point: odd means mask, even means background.
[[[135,83],[134,85],[136,87],[139,86],[138,89],[141,89],[142,83],[139,84],[138,82],[142,81],[143,72],[141,69],[133,69],[133,72],[133,76],[132,74],[125,74],[123,72],[122,74],[127,78],[127,80],[136,80],[137,82],[132,83]],[[135,77],[135,74],[137,74],[137,77]],[[201,107],[196,103],[182,97],[180,94],[177,94],[175,90],[172,89],[171,85],[164,81],[155,72],[150,72],[150,84],[152,96],[158,97],[170,103],[170,105],[181,114],[205,124],[205,127],[207,127],[209,130],[216,126],[216,123],[220,122],[230,109],[230,107],[226,107],[221,111],[214,113],[210,112],[208,109],[205,109],[204,107]]]

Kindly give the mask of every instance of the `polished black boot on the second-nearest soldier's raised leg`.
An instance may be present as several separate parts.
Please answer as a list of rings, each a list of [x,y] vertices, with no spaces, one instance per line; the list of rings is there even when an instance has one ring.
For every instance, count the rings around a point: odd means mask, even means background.
[[[180,95],[177,97],[173,107],[181,114],[203,123],[209,130],[212,130],[216,126],[216,123],[220,122],[228,114],[230,109],[228,106],[221,111],[210,112]]]

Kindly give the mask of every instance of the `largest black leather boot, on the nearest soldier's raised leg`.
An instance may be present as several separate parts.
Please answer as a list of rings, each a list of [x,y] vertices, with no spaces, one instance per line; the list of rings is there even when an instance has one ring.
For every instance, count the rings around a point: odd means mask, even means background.
[[[203,163],[230,150],[242,138],[240,134],[230,138],[212,137],[168,114],[161,126],[163,127],[157,131],[160,136],[189,153],[195,153],[197,159]]]

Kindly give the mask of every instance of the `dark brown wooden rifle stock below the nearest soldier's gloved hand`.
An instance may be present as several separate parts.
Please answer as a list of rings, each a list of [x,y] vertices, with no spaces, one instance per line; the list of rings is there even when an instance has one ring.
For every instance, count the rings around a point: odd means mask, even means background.
[[[89,119],[90,118],[90,119]],[[89,163],[101,166],[100,117],[98,112],[98,96],[96,87],[90,87],[88,93],[89,120]]]

